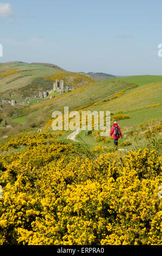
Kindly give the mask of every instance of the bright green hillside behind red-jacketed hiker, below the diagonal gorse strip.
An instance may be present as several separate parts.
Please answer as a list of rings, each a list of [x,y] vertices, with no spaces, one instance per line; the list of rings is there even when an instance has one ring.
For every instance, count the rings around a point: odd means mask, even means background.
[[[157,125],[161,125],[161,96],[162,83],[146,84],[124,92],[121,91],[121,93],[115,95],[114,99],[103,102],[98,101],[88,109],[90,111],[109,110],[111,112],[111,126],[113,121],[117,120],[122,129],[121,149],[141,148],[148,143],[147,133],[155,129],[154,127],[157,127]],[[124,116],[128,118],[125,119]],[[150,123],[147,123],[149,120],[151,120]],[[142,124],[144,124],[145,131],[141,129]],[[157,133],[151,134],[153,138],[159,139],[161,132],[160,126]],[[62,135],[61,138],[66,141],[65,135]],[[99,144],[108,147],[113,146],[113,139],[100,138],[99,133],[95,135],[95,132],[92,133],[92,136],[85,136],[85,131],[81,131],[76,139],[81,144],[86,142],[89,147],[95,147]]]

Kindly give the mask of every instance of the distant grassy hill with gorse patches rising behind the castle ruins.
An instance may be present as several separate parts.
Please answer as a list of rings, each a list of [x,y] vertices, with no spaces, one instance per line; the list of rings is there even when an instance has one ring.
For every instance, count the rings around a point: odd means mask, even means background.
[[[56,79],[65,86],[80,87],[94,82],[89,76],[67,72],[48,63],[9,62],[0,64],[0,100],[19,100],[51,90]]]

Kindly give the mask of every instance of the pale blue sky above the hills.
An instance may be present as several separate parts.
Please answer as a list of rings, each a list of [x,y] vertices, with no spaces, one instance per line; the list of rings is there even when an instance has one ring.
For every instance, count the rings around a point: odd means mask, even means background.
[[[0,62],[68,71],[162,75],[161,0],[0,1]]]

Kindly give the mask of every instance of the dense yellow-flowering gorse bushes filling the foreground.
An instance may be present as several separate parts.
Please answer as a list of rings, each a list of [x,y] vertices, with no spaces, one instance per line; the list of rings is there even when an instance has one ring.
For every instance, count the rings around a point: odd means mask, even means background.
[[[11,138],[0,152],[9,149],[0,161],[1,245],[160,245],[154,150],[91,160],[49,133]]]

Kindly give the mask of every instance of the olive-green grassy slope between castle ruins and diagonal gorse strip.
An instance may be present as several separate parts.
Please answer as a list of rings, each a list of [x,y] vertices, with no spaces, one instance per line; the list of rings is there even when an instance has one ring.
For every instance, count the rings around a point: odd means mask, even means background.
[[[73,92],[65,95],[59,95],[48,102],[40,102],[30,106],[30,117],[35,118],[35,113],[43,114],[48,121],[47,127],[51,127],[51,115],[53,111],[64,111],[64,106],[68,106],[70,111],[83,110],[96,102],[109,100],[113,95],[119,93],[122,89],[129,90],[132,87],[130,83],[123,82],[96,82],[90,83],[84,87],[77,88]]]

